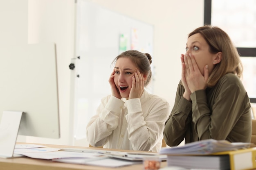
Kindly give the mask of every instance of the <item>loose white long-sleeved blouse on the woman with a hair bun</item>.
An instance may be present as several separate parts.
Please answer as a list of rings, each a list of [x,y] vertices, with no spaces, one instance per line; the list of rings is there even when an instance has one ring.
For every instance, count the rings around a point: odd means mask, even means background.
[[[106,96],[92,116],[86,135],[92,146],[159,152],[169,103],[144,90],[141,98]]]

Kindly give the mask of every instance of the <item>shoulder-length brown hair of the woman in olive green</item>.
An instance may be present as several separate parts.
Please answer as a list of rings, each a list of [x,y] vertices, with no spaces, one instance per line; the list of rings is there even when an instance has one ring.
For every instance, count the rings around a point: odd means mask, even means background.
[[[192,31],[188,37],[200,33],[209,45],[209,52],[216,54],[222,52],[222,60],[214,65],[207,85],[213,87],[219,79],[227,73],[236,74],[241,78],[243,73],[243,65],[236,47],[233,45],[229,35],[217,26],[202,26]]]

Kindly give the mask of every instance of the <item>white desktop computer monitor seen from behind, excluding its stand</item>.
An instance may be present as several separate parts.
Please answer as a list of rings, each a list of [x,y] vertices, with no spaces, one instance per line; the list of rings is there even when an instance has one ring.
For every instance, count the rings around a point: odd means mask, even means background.
[[[19,135],[59,138],[55,45],[0,48],[0,119],[3,111],[22,111]]]

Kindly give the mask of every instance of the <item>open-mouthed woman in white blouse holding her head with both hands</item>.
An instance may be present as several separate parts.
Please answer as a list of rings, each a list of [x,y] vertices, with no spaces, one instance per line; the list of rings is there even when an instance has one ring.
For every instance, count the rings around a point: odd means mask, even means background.
[[[144,87],[151,79],[148,53],[128,50],[117,56],[109,83],[112,95],[102,98],[86,135],[92,146],[159,152],[170,106]]]

